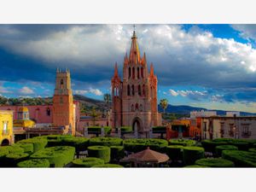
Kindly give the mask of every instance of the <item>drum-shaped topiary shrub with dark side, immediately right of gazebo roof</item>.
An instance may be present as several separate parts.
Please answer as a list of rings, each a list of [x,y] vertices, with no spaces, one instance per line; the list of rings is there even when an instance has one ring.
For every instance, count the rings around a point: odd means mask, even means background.
[[[205,157],[205,149],[201,147],[183,147],[183,163],[186,166],[194,165],[195,160]]]

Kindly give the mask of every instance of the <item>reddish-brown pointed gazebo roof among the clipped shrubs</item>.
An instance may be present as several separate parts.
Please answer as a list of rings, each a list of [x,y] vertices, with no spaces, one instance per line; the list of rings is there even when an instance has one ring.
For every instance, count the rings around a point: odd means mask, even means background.
[[[123,159],[123,161],[134,161],[134,162],[155,162],[162,163],[169,160],[167,154],[161,154],[154,150],[151,150],[149,147],[146,150],[138,152],[136,154],[130,154],[128,157]]]

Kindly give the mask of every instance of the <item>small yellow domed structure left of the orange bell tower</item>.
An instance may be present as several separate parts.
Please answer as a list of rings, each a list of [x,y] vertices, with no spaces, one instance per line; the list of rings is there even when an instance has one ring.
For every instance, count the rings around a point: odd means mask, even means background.
[[[29,111],[26,107],[20,107],[18,119],[14,120],[14,127],[34,127],[36,123],[29,119]]]

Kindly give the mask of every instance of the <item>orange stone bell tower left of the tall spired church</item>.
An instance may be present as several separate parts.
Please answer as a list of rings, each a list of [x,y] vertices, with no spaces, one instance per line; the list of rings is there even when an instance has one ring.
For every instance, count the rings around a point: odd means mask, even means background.
[[[68,69],[65,72],[62,72],[61,69],[56,71],[53,125],[63,126],[69,133],[75,134],[73,95]]]

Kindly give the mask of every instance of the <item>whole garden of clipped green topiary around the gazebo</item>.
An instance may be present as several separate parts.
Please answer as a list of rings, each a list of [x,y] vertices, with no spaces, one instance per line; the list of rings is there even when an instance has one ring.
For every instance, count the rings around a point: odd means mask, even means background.
[[[0,147],[1,167],[132,167],[121,160],[150,148],[167,154],[162,167],[255,167],[256,140],[117,137],[33,137]],[[209,156],[210,155],[210,156]],[[146,165],[146,164],[145,164]]]

